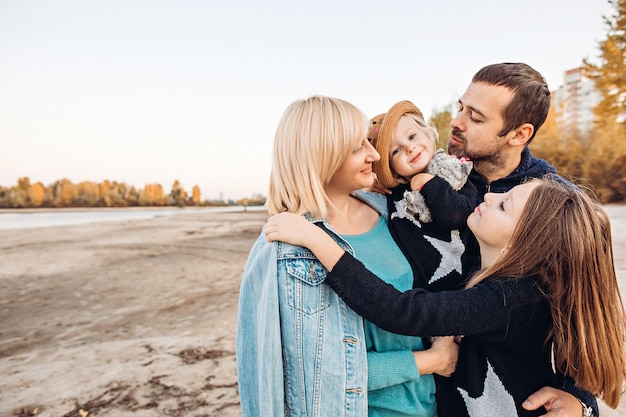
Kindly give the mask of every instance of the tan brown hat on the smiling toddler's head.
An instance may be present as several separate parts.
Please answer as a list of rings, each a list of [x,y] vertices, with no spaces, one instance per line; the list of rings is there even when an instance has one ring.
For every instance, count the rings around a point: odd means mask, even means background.
[[[387,113],[374,116],[370,120],[367,138],[380,154],[380,161],[374,164],[374,172],[378,182],[383,187],[394,188],[400,184],[391,172],[391,166],[389,165],[389,143],[400,118],[410,113],[416,114],[422,119],[424,118],[424,115],[415,104],[408,100],[403,100],[394,104]]]

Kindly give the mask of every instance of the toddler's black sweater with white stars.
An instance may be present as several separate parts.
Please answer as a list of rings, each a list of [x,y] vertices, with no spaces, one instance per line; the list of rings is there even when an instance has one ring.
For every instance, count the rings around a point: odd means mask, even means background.
[[[407,204],[408,184],[401,184],[387,196],[389,229],[414,271],[414,287],[430,291],[464,287],[467,271],[477,264],[469,256],[466,245],[470,239],[466,221],[475,208],[476,188],[467,181],[455,191],[450,184],[435,176],[420,191],[432,220],[423,222]]]

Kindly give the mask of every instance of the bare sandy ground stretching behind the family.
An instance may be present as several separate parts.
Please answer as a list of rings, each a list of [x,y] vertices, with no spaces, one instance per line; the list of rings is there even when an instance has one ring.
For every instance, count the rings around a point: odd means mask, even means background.
[[[625,294],[626,206],[607,211]],[[2,231],[0,416],[241,416],[237,295],[266,217]]]

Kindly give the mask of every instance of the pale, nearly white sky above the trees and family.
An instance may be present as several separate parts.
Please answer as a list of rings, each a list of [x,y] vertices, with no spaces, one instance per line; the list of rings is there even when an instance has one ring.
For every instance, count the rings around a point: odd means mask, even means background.
[[[369,117],[456,106],[526,62],[551,90],[598,62],[606,0],[0,0],[0,185],[178,180],[267,195],[273,137],[323,94]]]

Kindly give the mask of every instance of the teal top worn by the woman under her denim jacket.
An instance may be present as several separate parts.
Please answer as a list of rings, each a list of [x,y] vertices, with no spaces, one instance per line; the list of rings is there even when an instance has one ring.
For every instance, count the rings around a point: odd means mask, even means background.
[[[412,288],[413,271],[391,237],[384,217],[366,233],[342,237],[370,271],[399,291]],[[413,351],[424,349],[422,339],[390,333],[368,321],[364,328],[369,417],[435,416],[433,376],[420,376],[413,356]]]

